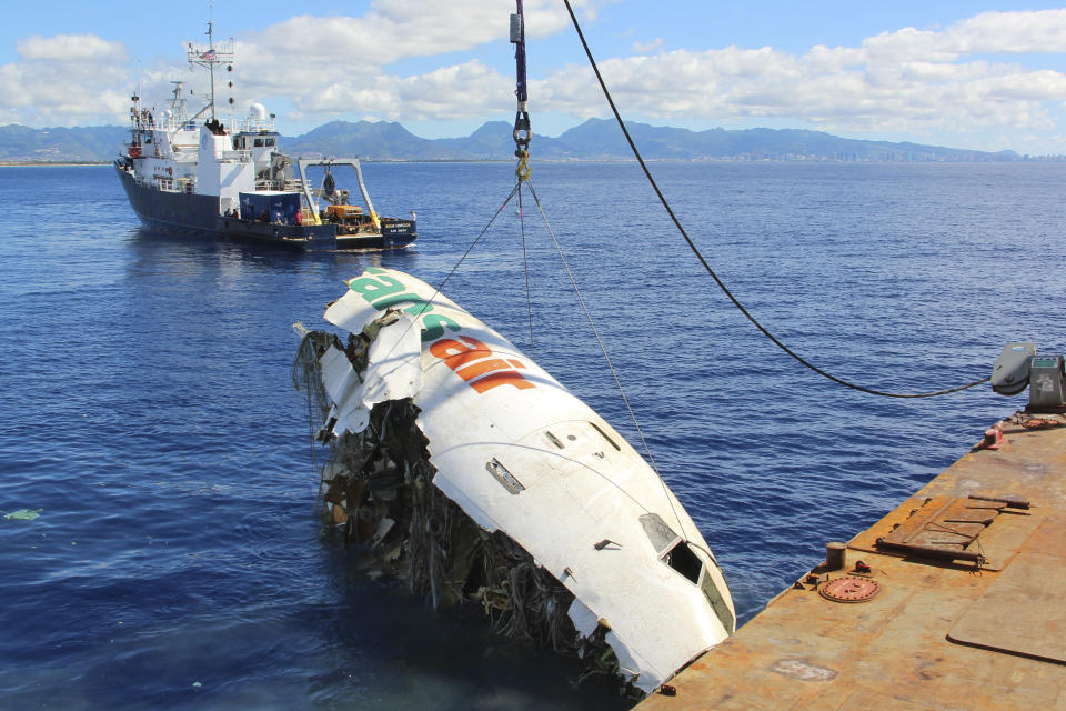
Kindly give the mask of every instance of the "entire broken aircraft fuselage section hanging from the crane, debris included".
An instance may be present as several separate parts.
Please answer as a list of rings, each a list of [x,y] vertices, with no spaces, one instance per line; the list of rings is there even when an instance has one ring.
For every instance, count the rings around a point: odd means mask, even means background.
[[[733,632],[722,572],[655,471],[503,337],[380,268],[325,319],[348,336],[305,332],[293,377],[332,451],[329,520],[384,570],[645,692]]]

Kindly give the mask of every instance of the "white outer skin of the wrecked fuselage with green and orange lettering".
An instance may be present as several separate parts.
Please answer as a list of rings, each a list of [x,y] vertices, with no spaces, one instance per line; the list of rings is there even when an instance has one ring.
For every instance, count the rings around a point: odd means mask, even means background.
[[[334,435],[366,428],[375,403],[412,398],[433,485],[569,589],[579,634],[604,625],[620,672],[645,692],[733,632],[695,524],[604,420],[421,280],[371,268],[348,283],[332,324],[361,333],[399,317],[375,329],[363,372],[335,346],[319,358]]]

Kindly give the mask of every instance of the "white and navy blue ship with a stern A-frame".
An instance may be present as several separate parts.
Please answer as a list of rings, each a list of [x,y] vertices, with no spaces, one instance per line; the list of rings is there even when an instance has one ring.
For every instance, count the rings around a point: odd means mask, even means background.
[[[233,41],[189,42],[190,68],[207,70],[210,91],[190,114],[192,91],[174,81],[170,106],[149,109],[131,97],[130,139],[114,169],[130,206],[148,229],[270,242],[300,249],[395,249],[418,237],[415,214],[378,214],[358,157],[302,158],[280,150],[275,114],[262,103],[222,120],[215,104],[217,74],[233,70]],[[232,87],[232,82],[227,84]],[[229,100],[232,107],[233,100]],[[354,172],[362,204],[350,200],[336,176]],[[321,176],[320,176],[321,174]]]

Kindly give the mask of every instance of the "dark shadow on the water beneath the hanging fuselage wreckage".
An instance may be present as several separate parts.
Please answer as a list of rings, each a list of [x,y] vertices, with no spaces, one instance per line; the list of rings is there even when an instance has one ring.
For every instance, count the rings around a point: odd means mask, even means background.
[[[358,553],[353,557],[335,541],[325,542],[324,549],[323,568],[335,603],[300,612],[308,618],[301,623],[325,633],[322,648],[335,655],[332,669],[309,680],[316,703],[344,709],[602,711],[633,705],[610,680],[579,685],[576,659],[494,635],[480,609],[434,612],[403,583],[370,580],[355,562]],[[352,693],[359,688],[372,691]]]

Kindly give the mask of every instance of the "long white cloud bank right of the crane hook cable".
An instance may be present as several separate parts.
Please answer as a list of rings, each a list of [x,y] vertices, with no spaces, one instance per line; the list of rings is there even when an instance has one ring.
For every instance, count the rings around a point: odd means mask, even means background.
[[[988,12],[944,30],[905,28],[859,47],[805,54],[728,47],[601,62],[620,109],[646,120],[738,123],[792,120],[825,130],[1049,130],[1066,74],[985,56],[1066,50],[1066,10]],[[974,58],[979,54],[982,58]],[[536,86],[549,110],[603,116],[589,70],[569,67]],[[591,93],[590,93],[591,91]]]

